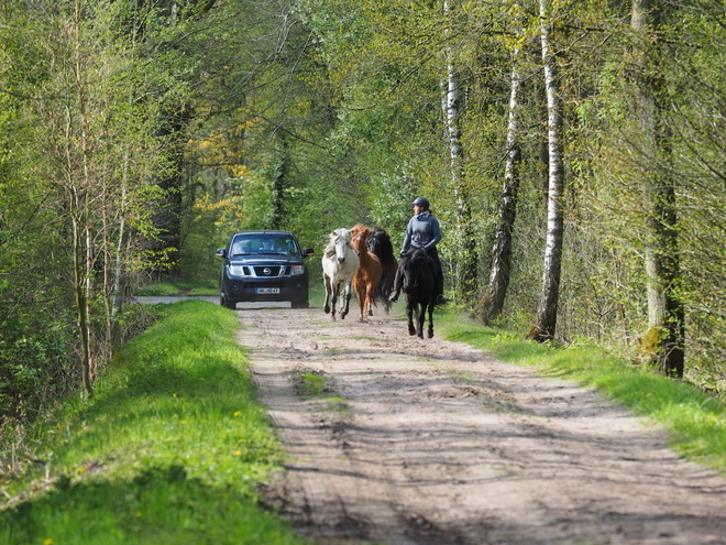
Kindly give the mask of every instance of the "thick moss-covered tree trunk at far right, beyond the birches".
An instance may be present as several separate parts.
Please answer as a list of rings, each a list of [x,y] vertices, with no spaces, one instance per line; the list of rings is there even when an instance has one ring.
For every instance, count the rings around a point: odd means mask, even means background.
[[[658,0],[632,0],[632,29],[644,42],[638,74],[639,119],[653,165],[645,173],[645,198],[648,207],[646,273],[648,276],[647,352],[661,372],[682,378],[684,369],[685,312],[679,297],[681,284],[678,250],[675,181],[673,152],[664,81],[660,66],[662,6]]]

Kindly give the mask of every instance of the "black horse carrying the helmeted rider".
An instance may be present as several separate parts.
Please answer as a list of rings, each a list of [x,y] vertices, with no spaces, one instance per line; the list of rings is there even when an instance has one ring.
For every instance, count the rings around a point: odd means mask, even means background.
[[[402,284],[406,294],[406,316],[408,316],[408,334],[424,338],[424,320],[429,313],[429,339],[433,337],[433,307],[436,306],[437,271],[433,260],[426,250],[419,248],[407,253],[400,261]],[[416,327],[414,327],[416,313]]]

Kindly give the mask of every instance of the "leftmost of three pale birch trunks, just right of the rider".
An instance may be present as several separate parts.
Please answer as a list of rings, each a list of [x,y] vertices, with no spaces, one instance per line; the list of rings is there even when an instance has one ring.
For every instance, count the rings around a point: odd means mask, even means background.
[[[443,11],[450,20],[453,11],[452,0],[444,0]],[[466,301],[471,299],[476,291],[479,258],[476,255],[476,240],[472,225],[470,192],[464,174],[464,146],[461,141],[461,128],[459,124],[461,106],[459,73],[450,46],[446,48],[446,57],[448,79],[443,106],[451,155],[451,182],[457,204],[457,247],[459,248],[459,254],[455,260],[458,263],[457,297]]]

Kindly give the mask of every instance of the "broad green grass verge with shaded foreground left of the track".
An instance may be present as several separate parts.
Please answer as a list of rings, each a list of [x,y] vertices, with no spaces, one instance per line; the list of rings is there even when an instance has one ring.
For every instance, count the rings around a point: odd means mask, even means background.
[[[302,544],[260,506],[282,453],[232,313],[163,309],[86,403],[30,435],[35,464],[2,482],[0,543]]]

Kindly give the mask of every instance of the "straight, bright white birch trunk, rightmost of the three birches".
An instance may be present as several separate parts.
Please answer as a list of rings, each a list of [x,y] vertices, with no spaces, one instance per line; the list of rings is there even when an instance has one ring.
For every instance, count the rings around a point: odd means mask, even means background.
[[[547,124],[549,155],[549,187],[547,199],[547,243],[544,248],[544,270],[542,291],[537,308],[537,326],[530,338],[540,342],[554,338],[557,312],[560,298],[560,274],[562,271],[562,239],[564,233],[563,211],[563,145],[562,115],[560,111],[559,84],[554,55],[550,47],[550,21],[548,0],[540,0],[542,61],[547,89]]]

